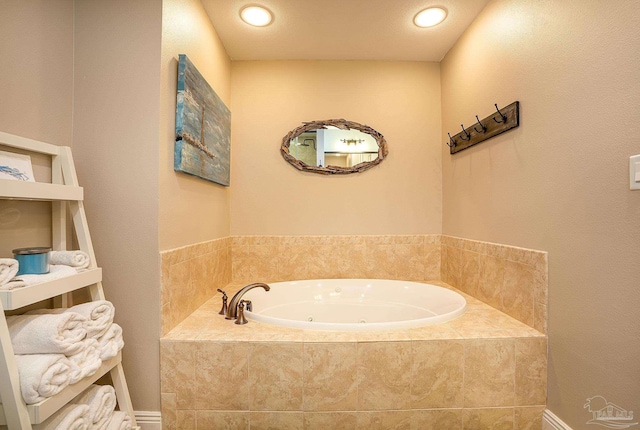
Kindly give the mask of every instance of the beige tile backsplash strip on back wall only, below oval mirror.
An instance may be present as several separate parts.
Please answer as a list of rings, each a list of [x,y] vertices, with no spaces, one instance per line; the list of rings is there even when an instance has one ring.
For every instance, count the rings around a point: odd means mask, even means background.
[[[440,235],[234,236],[233,282],[440,279]]]

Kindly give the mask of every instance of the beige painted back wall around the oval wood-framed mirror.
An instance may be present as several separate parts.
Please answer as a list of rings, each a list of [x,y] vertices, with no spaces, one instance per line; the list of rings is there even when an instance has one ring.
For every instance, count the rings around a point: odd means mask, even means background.
[[[234,61],[231,94],[233,235],[440,232],[438,64]],[[284,135],[329,118],[378,130],[389,157],[349,176],[284,161]]]

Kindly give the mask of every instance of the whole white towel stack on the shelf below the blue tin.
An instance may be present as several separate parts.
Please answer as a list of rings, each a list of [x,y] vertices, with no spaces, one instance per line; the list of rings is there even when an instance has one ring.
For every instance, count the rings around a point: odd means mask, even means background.
[[[40,309],[7,317],[20,389],[38,403],[95,374],[124,347],[111,302],[98,300],[68,309]]]

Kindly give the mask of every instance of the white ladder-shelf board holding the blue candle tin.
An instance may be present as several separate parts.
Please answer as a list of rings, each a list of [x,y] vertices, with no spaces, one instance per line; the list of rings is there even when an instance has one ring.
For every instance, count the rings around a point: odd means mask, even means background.
[[[51,297],[88,287],[102,281],[102,269],[89,269],[76,275],[66,276],[54,281],[16,288],[15,290],[0,291],[2,307],[6,311],[19,309],[32,303],[37,303]]]

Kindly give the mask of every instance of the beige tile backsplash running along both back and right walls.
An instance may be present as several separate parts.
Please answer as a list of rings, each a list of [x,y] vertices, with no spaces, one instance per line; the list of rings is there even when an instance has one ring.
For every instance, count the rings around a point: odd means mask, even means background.
[[[238,236],[236,283],[441,279],[546,333],[547,253],[441,235]]]

